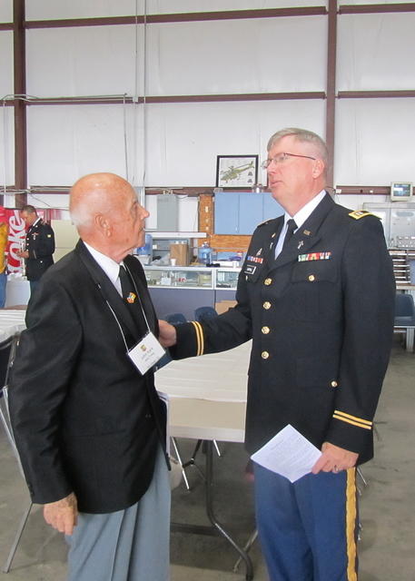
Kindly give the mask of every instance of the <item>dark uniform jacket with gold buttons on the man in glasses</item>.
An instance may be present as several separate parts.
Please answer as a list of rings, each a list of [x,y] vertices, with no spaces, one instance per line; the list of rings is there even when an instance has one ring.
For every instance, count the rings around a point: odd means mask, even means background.
[[[327,194],[277,260],[283,216],[252,235],[235,309],[177,327],[176,358],[252,338],[246,446],[287,424],[371,458],[372,420],[388,365],[395,284],[380,220]]]

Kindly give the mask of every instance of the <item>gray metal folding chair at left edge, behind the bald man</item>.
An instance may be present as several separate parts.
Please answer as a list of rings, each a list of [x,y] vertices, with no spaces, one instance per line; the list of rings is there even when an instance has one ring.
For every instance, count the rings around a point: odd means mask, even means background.
[[[2,393],[3,397],[0,397],[0,419],[5,428],[5,435],[10,443],[10,446],[15,454],[15,458],[17,460],[17,464],[19,466],[20,472],[25,478],[22,463],[20,461],[19,453],[17,451],[15,445],[15,437],[13,435],[13,428],[10,421],[10,413],[8,407],[8,379],[9,379],[9,372],[13,366],[13,362],[15,360],[15,349],[17,347],[19,337],[15,335],[14,337],[10,337],[9,339],[0,343],[0,379],[2,379]],[[5,561],[5,566],[3,567],[3,573],[8,573],[10,571],[10,567],[12,566],[13,559],[15,558],[15,551],[19,544],[20,538],[22,537],[23,530],[25,528],[25,524],[27,518],[29,517],[30,511],[32,510],[33,503],[30,501],[29,506],[25,509],[25,513],[20,521],[19,527],[17,528],[15,534],[15,540],[13,541],[12,547],[10,548],[9,554],[7,556],[7,560]]]

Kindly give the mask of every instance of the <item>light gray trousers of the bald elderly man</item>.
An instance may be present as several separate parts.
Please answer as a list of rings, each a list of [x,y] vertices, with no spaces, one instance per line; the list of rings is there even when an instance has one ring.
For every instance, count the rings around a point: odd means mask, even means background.
[[[170,482],[160,448],[153,480],[132,507],[82,513],[69,544],[67,581],[168,581]]]

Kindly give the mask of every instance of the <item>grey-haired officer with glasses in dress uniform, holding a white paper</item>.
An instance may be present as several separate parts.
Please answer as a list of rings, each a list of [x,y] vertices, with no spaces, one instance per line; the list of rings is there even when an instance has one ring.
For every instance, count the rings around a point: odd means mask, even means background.
[[[217,318],[161,321],[173,358],[252,338],[245,445],[291,424],[321,450],[292,483],[254,463],[255,510],[272,581],[357,579],[355,467],[372,458],[387,369],[395,284],[380,220],[325,192],[327,150],[315,133],[272,135],[263,164],[285,215],[253,233],[236,292]]]

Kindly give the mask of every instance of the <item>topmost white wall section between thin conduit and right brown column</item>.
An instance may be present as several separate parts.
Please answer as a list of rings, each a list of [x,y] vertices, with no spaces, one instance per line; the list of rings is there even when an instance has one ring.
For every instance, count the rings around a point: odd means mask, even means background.
[[[147,94],[324,91],[326,38],[324,16],[151,25]]]

